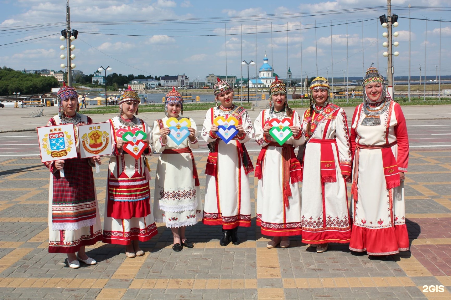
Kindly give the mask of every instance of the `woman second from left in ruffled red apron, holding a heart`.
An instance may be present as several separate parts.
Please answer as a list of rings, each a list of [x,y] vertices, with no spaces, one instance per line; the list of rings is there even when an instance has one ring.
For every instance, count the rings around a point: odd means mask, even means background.
[[[151,177],[146,157],[153,152],[151,129],[134,116],[138,114],[139,102],[138,93],[129,86],[120,95],[119,116],[109,120],[114,144],[107,178],[103,242],[125,245],[129,258],[143,256],[139,241],[148,241],[157,233],[150,209]],[[143,133],[149,137],[140,142]],[[123,137],[129,141],[127,144]],[[144,150],[136,159],[124,147],[132,148],[137,156]]]

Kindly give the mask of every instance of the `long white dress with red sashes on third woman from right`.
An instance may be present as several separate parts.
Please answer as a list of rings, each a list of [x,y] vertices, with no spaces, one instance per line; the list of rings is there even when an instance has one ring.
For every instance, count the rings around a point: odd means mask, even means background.
[[[267,140],[264,123],[272,118],[282,120],[286,113],[274,115],[265,109],[254,122],[255,141],[263,149],[257,161],[257,225],[268,236],[295,236],[301,234],[301,197],[299,193],[301,166],[294,149],[304,144],[302,132],[291,136],[283,146]],[[293,111],[293,126],[301,125],[299,114]]]

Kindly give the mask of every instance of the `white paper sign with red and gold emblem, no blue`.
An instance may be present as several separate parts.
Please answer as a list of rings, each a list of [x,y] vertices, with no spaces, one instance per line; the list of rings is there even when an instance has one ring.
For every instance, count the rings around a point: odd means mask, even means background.
[[[79,125],[80,158],[113,153],[110,122]]]

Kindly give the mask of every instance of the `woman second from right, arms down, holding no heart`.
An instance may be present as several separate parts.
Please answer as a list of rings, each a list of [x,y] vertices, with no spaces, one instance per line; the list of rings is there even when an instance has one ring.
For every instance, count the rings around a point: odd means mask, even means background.
[[[351,224],[346,181],[351,175],[351,145],[346,114],[329,103],[329,82],[316,77],[310,84],[310,108],[302,130],[306,145],[302,181],[302,242],[316,245],[349,243]],[[302,154],[299,156],[302,157]]]

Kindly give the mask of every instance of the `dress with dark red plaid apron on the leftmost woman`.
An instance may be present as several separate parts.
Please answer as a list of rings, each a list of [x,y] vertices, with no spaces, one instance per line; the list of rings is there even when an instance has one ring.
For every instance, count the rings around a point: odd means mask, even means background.
[[[92,119],[78,114],[81,119],[74,125],[77,136],[79,124],[91,124]],[[63,124],[56,115],[47,126]],[[96,186],[89,159],[78,157],[64,160],[64,177],[55,168],[55,162],[44,165],[51,172],[49,185],[49,252],[75,253],[81,246],[94,245],[102,240]]]

